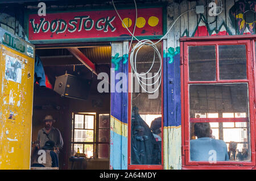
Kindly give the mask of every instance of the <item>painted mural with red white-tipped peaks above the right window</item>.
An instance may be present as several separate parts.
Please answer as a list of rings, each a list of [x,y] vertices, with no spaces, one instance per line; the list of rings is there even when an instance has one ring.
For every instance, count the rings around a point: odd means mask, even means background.
[[[227,3],[230,4],[231,2],[228,1]],[[191,14],[187,20],[186,16],[184,16],[184,23],[180,24],[181,37],[255,34],[256,3],[254,1],[239,0],[232,4],[225,7],[226,13],[223,11],[216,16],[216,20],[212,24],[208,22],[209,15],[206,13]]]

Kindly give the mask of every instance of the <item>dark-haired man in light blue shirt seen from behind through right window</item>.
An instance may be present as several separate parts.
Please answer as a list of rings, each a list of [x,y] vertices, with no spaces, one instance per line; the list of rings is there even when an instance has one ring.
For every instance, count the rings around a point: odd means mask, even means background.
[[[226,143],[210,138],[210,123],[195,123],[196,140],[190,140],[191,161],[229,161]]]

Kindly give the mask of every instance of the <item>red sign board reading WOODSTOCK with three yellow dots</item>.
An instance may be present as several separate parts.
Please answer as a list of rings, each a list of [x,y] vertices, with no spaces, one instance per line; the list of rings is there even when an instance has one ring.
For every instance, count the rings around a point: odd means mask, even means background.
[[[163,35],[162,7],[138,9],[135,36]],[[133,32],[135,10],[118,10]],[[29,40],[87,39],[131,36],[115,10],[47,13],[28,16]]]

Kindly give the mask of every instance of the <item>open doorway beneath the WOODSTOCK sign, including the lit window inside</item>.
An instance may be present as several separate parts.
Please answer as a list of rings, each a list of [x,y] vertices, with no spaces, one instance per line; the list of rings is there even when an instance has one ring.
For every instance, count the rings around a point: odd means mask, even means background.
[[[110,77],[111,52],[109,43],[36,48],[46,80],[34,85],[32,142],[38,141],[39,130],[46,126],[43,120],[51,115],[64,143],[60,170],[109,169],[110,91],[97,90],[102,81],[97,74]],[[35,151],[32,145],[31,157]],[[76,162],[74,157],[86,158]]]

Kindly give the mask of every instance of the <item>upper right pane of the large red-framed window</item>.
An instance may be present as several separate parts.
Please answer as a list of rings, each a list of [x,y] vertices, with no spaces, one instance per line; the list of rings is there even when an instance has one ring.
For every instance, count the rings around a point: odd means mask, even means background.
[[[246,79],[245,45],[219,45],[220,79]]]

